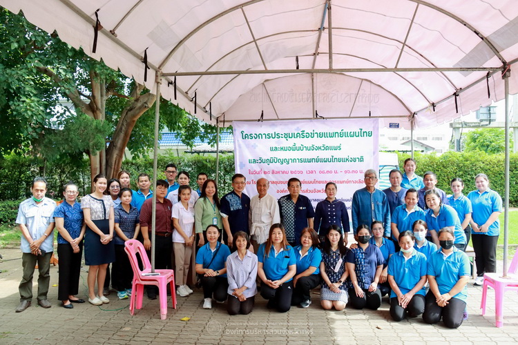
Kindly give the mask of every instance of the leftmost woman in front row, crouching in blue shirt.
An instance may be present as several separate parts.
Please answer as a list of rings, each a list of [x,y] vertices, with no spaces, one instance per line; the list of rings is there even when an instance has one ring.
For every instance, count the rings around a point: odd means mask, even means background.
[[[230,249],[226,244],[218,241],[220,229],[209,225],[205,231],[207,244],[204,244],[196,254],[196,273],[200,275],[203,288],[203,308],[212,308],[212,297],[216,302],[227,300],[227,257]]]

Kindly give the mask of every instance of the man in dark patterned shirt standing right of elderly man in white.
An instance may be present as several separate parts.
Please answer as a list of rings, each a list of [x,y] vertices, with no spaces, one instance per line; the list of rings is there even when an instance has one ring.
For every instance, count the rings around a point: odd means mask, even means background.
[[[288,180],[289,194],[279,198],[280,222],[286,229],[286,240],[291,245],[300,244],[300,233],[303,228],[313,228],[315,211],[308,197],[300,195],[300,179],[291,177]]]

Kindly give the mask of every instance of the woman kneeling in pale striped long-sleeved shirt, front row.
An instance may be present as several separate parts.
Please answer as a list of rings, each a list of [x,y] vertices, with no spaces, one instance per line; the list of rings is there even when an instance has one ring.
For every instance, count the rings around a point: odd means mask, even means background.
[[[247,250],[250,246],[250,237],[247,233],[235,233],[232,246],[236,251],[227,257],[227,311],[230,315],[247,315],[252,311],[257,293],[258,259],[257,255]]]

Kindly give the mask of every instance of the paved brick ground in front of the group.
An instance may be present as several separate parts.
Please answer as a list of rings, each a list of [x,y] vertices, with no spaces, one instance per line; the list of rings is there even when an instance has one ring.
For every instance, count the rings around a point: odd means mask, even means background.
[[[19,250],[0,250],[0,344],[517,344],[518,294],[506,294],[503,328],[495,327],[494,293],[488,294],[488,311],[479,310],[481,288],[468,288],[470,317],[451,330],[438,324],[424,324],[421,317],[392,322],[387,299],[378,311],[323,311],[318,295],[307,308],[292,308],[289,313],[269,311],[257,297],[250,315],[230,317],[225,304],[202,309],[202,293],[178,297],[177,309],[169,308],[167,319],[160,319],[159,303],[144,297],[144,306],[133,317],[129,300],[118,300],[97,307],[75,304],[73,310],[59,306],[57,286],[50,287],[52,308],[44,309],[33,299],[23,313],[15,313],[19,304],[21,279]],[[9,261],[8,261],[9,260]],[[57,284],[57,267],[50,270],[51,285]],[[37,287],[35,286],[35,293]],[[86,273],[81,274],[79,297],[86,296]],[[190,317],[189,321],[181,321]]]

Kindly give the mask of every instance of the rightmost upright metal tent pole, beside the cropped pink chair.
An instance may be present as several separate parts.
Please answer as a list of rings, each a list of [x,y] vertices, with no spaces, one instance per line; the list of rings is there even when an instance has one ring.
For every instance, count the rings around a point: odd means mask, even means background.
[[[503,277],[507,277],[507,255],[509,235],[509,76],[510,70],[506,66],[503,72],[503,90],[505,92],[506,108],[506,157],[505,157],[505,196],[503,199]]]

